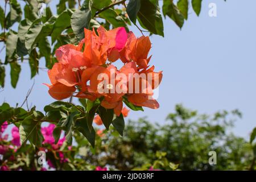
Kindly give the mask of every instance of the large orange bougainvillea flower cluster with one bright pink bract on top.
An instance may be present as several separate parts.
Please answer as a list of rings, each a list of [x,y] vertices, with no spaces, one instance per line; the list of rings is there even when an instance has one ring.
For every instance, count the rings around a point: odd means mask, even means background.
[[[97,31],[84,32],[85,38],[77,46],[67,44],[56,49],[58,62],[48,71],[49,94],[56,100],[71,96],[90,101],[102,98],[101,106],[114,109],[118,116],[124,97],[133,105],[157,109],[153,90],[163,75],[148,65],[148,36],[136,38],[123,27],[106,31],[101,26]],[[121,69],[114,66],[117,60],[124,64]]]

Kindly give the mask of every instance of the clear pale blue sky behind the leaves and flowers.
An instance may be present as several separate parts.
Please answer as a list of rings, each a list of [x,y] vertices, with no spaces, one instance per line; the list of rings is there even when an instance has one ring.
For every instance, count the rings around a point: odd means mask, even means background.
[[[211,2],[217,5],[216,18],[208,15]],[[50,6],[55,7],[55,3]],[[150,52],[153,55],[150,63],[155,65],[156,71],[163,71],[158,98],[160,108],[131,111],[129,118],[147,116],[152,122],[163,123],[179,103],[209,114],[222,109],[240,109],[243,118],[236,122],[233,131],[248,138],[256,126],[255,7],[255,0],[204,0],[200,16],[190,9],[181,31],[169,18],[164,20],[165,36],[151,36]],[[131,30],[141,36],[136,27]],[[0,59],[4,57],[5,51],[2,51]],[[40,67],[44,67],[44,60],[40,60]],[[28,98],[29,104],[43,110],[44,105],[54,101],[42,84],[49,83],[46,71],[40,70],[39,75],[30,80],[29,65],[23,63],[16,89],[10,85],[9,66],[6,75],[0,103],[21,104],[33,80],[35,86]]]

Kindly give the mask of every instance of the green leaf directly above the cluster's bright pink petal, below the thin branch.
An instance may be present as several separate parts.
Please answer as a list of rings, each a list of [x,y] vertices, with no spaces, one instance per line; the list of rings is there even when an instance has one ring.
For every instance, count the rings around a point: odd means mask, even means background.
[[[119,16],[114,9],[102,11],[99,15],[111,23],[114,28],[125,27],[126,30],[128,30],[125,20],[123,20],[122,16]]]

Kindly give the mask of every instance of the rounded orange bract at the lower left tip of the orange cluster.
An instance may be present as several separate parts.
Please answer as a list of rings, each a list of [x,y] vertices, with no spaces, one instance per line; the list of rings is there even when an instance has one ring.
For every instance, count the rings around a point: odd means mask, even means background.
[[[65,86],[63,84],[55,84],[49,86],[49,94],[56,100],[63,100],[64,98],[71,97],[73,92],[76,91],[75,86]]]

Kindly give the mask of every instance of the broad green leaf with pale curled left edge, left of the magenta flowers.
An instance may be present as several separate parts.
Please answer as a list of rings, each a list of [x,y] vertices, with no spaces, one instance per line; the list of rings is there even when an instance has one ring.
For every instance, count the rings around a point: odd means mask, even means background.
[[[19,126],[20,144],[22,146],[27,143],[34,144],[37,147],[42,146],[43,135],[41,133],[41,126],[39,121],[34,121],[32,115],[26,117]]]

